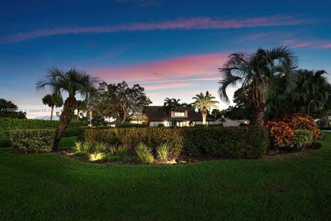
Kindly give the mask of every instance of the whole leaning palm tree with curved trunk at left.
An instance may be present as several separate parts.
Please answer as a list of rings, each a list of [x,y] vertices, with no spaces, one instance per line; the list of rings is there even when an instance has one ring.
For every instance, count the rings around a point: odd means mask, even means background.
[[[83,70],[71,68],[70,70],[63,71],[57,67],[49,68],[47,75],[37,81],[37,90],[48,87],[52,93],[61,94],[63,91],[68,93],[68,98],[64,102],[63,111],[60,115],[59,125],[57,126],[54,137],[54,149],[57,148],[59,140],[72,120],[72,117],[74,117],[74,110],[77,107],[77,101],[74,96],[80,94],[81,97],[89,97],[95,90],[94,83],[96,81],[96,78],[90,77]]]

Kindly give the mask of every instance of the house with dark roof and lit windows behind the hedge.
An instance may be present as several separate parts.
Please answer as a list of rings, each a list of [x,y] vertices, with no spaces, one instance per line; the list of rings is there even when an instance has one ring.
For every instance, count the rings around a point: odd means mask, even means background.
[[[145,112],[150,126],[194,126],[202,124],[202,115],[195,112],[191,106],[179,106],[170,113],[163,111],[163,106],[148,106]],[[212,124],[213,120],[206,118],[206,124]]]

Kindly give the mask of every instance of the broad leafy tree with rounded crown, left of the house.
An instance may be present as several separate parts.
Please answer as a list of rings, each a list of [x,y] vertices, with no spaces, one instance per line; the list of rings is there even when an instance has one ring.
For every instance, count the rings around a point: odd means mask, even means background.
[[[146,106],[152,104],[146,97],[145,89],[139,84],[130,87],[126,81],[119,84],[99,84],[97,99],[94,97],[93,107],[104,117],[114,117],[121,120],[136,118],[141,115]]]

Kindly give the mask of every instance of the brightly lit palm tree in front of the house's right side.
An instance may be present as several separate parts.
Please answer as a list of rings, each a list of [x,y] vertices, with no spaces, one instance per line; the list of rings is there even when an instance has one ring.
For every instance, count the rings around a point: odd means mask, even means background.
[[[192,103],[194,108],[198,108],[201,110],[202,115],[202,124],[205,124],[205,118],[207,117],[207,111],[210,111],[210,108],[218,108],[217,104],[219,102],[214,101],[215,97],[210,95],[208,90],[205,92],[205,95],[201,92],[199,95],[195,95],[196,97],[192,97],[195,99],[195,102]]]

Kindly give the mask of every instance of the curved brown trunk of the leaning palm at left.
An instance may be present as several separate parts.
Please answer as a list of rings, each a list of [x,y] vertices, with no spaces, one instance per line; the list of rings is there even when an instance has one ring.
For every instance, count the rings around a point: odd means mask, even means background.
[[[76,105],[77,102],[74,96],[69,96],[66,99],[66,102],[64,102],[63,112],[60,115],[59,125],[57,126],[57,131],[55,132],[53,150],[57,149],[57,146],[59,145],[59,141],[61,140],[64,131],[66,131],[68,124],[74,117],[74,109],[76,109]]]

